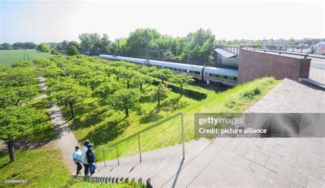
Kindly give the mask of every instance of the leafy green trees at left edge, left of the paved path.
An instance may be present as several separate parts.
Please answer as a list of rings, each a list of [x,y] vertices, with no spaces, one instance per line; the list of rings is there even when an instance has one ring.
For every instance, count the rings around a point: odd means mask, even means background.
[[[47,115],[28,106],[39,90],[32,62],[13,62],[10,68],[0,66],[0,139],[8,146],[11,162],[15,159],[17,136],[45,127]]]

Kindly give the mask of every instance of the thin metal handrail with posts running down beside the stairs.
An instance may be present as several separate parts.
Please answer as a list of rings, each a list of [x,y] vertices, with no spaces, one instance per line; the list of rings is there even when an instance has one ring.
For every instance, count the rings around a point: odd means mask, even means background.
[[[120,143],[123,143],[124,141],[128,141],[129,139],[132,139],[133,137],[136,137],[138,136],[138,143],[139,143],[139,156],[140,156],[140,162],[142,162],[142,157],[141,157],[141,144],[140,144],[140,134],[147,131],[147,130],[150,130],[156,126],[159,126],[160,124],[163,124],[165,123],[166,121],[169,121],[175,117],[178,117],[180,115],[180,119],[181,119],[181,124],[182,124],[182,155],[183,155],[183,158],[185,158],[185,139],[184,139],[184,121],[183,121],[183,113],[180,112],[180,113],[177,113],[176,115],[172,115],[171,117],[167,117],[166,119],[163,119],[162,121],[159,121],[158,123],[152,125],[152,126],[149,126],[143,130],[140,130],[139,132],[136,132],[135,134],[132,134],[130,137],[127,137],[121,141],[118,141],[117,143],[114,143],[110,146],[108,146],[107,148],[104,148],[102,150],[99,150],[98,152],[96,152],[96,154],[100,153],[100,152],[103,152],[103,156],[104,156],[104,165],[106,167],[106,160],[105,160],[105,151],[116,146],[116,150],[117,150],[117,164],[119,165],[119,150],[118,150],[118,147],[117,145],[119,145]]]

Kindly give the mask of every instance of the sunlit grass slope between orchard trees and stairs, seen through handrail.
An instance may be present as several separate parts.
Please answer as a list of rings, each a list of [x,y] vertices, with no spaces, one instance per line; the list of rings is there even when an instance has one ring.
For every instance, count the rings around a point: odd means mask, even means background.
[[[273,78],[263,78],[236,86],[227,91],[219,92],[201,88],[208,93],[206,99],[197,101],[188,97],[179,99],[178,93],[171,93],[161,106],[150,97],[154,86],[145,88],[145,97],[141,99],[140,109],[131,110],[130,117],[125,119],[123,112],[112,110],[97,97],[88,97],[75,106],[75,119],[70,121],[71,128],[77,139],[82,143],[90,139],[95,143],[95,152],[108,145],[125,139],[148,126],[174,115],[180,111],[184,113],[184,127],[186,141],[194,137],[195,113],[242,113],[255,104],[266,93],[276,86],[278,81]],[[258,93],[253,97],[243,97],[245,93]],[[64,114],[69,118],[69,108],[61,106]],[[180,143],[180,118],[167,121],[165,124],[141,134],[141,149],[143,152],[156,148]],[[119,145],[119,155],[136,154],[138,150],[137,137]],[[116,148],[106,151],[106,158],[116,158]],[[98,156],[103,160],[102,155]]]

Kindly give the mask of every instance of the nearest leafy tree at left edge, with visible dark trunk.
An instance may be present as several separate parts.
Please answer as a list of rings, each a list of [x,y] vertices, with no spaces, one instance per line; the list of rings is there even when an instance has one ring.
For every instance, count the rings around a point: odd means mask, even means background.
[[[10,162],[15,160],[14,140],[16,136],[22,132],[27,133],[43,128],[47,118],[44,113],[25,106],[23,108],[18,106],[0,108],[0,138],[8,146]]]

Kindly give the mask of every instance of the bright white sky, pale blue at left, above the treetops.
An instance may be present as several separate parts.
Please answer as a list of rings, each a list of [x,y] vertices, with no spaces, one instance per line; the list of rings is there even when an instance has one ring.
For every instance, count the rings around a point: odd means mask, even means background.
[[[81,33],[127,37],[136,28],[217,39],[325,38],[324,1],[7,1],[0,43],[78,40]]]

